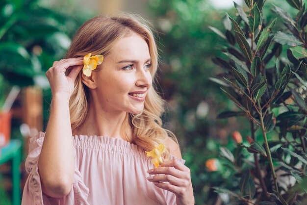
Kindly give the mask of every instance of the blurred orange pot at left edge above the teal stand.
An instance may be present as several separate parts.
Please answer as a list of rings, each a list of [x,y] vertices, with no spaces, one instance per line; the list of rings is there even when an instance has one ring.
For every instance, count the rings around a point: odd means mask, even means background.
[[[11,138],[12,113],[0,111],[0,147],[6,145]]]

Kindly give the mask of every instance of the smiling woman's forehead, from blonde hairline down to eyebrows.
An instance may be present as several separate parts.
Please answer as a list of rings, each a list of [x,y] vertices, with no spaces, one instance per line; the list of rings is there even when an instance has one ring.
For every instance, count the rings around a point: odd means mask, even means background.
[[[135,32],[118,40],[109,52],[114,60],[149,59],[150,52],[145,39]]]

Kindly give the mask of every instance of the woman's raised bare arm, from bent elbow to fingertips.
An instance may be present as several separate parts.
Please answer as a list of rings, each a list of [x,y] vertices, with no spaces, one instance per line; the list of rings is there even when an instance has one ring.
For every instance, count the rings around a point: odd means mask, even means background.
[[[73,184],[75,155],[69,114],[69,98],[74,81],[81,70],[78,58],[55,61],[46,76],[51,84],[52,102],[49,123],[42,151],[38,160],[38,172],[42,190],[51,197],[66,196]],[[76,66],[78,65],[78,66]],[[66,77],[65,70],[72,72]]]

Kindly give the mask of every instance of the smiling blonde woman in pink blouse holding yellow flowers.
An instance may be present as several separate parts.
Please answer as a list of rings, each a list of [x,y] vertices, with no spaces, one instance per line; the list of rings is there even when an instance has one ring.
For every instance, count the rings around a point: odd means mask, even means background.
[[[23,205],[194,204],[177,139],[161,127],[157,56],[135,17],[98,16],[79,28],[46,73],[50,119],[30,142]],[[159,144],[164,162],[154,168],[145,151]]]

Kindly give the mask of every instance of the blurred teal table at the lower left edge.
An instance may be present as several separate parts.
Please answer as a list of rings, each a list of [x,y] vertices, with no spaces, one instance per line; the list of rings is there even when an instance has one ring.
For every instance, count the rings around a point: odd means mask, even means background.
[[[21,192],[20,192],[20,163],[22,143],[20,140],[13,139],[10,142],[0,148],[0,164],[3,164],[9,160],[12,160],[12,205],[21,204]]]

